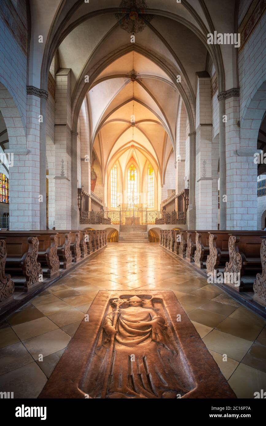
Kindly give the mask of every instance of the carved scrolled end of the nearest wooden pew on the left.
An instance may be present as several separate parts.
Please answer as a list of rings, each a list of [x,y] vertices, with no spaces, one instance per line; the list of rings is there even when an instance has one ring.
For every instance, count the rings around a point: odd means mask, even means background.
[[[6,275],[6,243],[0,239],[0,308],[13,300],[14,282],[9,274]]]

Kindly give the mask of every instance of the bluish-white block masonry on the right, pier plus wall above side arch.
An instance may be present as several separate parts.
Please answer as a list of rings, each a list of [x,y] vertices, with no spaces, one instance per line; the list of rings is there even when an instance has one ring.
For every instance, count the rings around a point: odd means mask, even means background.
[[[239,52],[240,98],[226,100],[227,229],[257,229],[254,153],[266,110],[265,28],[264,14]]]

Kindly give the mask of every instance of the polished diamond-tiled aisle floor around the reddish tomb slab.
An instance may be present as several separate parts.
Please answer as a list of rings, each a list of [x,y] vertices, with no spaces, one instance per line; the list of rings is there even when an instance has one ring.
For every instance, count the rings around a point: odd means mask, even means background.
[[[237,397],[266,390],[266,321],[158,244],[113,243],[0,325],[0,391],[38,397],[98,291],[113,289],[172,290]]]

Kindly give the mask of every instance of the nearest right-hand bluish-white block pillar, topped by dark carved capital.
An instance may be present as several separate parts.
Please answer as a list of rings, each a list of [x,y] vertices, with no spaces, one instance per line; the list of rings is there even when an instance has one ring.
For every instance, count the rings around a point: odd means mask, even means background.
[[[239,125],[239,89],[230,89],[220,94],[225,99],[226,114],[226,186],[227,229],[257,229],[257,126]],[[260,113],[252,106],[252,114]],[[221,193],[221,192],[220,192]],[[221,204],[221,202],[220,202]]]

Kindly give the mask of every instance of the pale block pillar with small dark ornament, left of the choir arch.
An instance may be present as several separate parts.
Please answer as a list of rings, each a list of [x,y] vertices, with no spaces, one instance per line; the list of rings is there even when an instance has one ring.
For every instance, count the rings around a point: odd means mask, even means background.
[[[70,69],[59,69],[55,75],[55,229],[72,226],[72,136]]]

